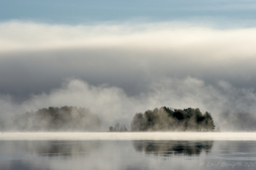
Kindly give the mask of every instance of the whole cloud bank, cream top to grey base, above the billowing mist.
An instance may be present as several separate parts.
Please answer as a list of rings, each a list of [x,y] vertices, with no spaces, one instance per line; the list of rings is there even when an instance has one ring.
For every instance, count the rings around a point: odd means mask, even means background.
[[[217,29],[192,23],[0,24],[0,94],[27,99],[67,78],[108,83],[135,95],[164,77],[195,77],[235,88],[256,83],[255,28]],[[19,88],[17,88],[19,87]]]

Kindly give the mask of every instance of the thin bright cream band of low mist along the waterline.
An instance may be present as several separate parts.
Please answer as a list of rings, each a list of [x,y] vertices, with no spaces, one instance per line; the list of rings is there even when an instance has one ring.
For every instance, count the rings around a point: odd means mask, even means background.
[[[256,133],[0,133],[0,140],[256,140]]]

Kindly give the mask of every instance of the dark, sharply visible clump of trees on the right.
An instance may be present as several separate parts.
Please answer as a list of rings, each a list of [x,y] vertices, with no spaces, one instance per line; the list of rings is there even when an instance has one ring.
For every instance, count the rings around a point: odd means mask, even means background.
[[[213,131],[209,112],[199,109],[176,110],[167,107],[137,113],[131,121],[131,131]]]

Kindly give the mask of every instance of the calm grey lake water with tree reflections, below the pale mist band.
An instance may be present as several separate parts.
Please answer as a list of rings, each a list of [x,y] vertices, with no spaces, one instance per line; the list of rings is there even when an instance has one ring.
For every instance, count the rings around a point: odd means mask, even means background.
[[[0,141],[0,169],[256,169],[256,141]]]

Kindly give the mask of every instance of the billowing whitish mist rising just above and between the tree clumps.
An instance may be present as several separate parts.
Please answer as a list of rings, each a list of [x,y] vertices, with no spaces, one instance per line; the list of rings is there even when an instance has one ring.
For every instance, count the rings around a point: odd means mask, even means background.
[[[227,123],[221,115],[224,111],[255,111],[256,94],[252,89],[233,88],[228,82],[219,82],[217,87],[187,77],[185,79],[164,79],[149,85],[147,94],[128,97],[121,88],[108,85],[92,86],[78,79],[64,82],[61,88],[53,89],[49,94],[32,95],[21,104],[11,99],[1,99],[3,114],[21,114],[36,111],[49,106],[73,105],[90,109],[102,122],[102,130],[108,130],[115,122],[130,127],[131,119],[137,112],[153,110],[155,107],[167,106],[175,109],[200,108],[209,111],[217,126],[222,130],[232,130],[236,125]],[[254,114],[251,114],[255,117]],[[252,119],[251,121],[254,121]],[[237,130],[237,128],[236,128]]]

